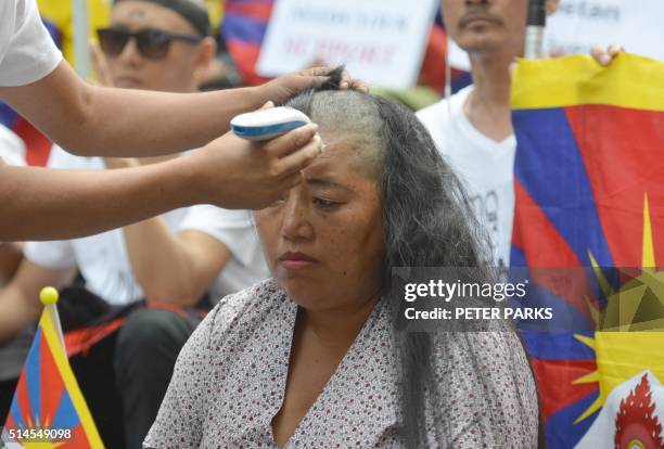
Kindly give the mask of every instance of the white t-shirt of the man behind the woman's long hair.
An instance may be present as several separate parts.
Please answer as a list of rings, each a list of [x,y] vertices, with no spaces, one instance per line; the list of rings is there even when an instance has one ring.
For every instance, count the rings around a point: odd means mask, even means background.
[[[497,267],[509,267],[514,216],[516,139],[496,142],[480,132],[463,113],[468,86],[449,99],[417,113],[445,161],[465,184],[488,233]]]

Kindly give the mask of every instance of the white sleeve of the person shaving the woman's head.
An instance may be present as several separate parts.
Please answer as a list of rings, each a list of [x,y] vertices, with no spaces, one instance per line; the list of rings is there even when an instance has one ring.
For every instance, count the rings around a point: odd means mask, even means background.
[[[0,0],[0,86],[35,82],[61,60],[35,0]]]

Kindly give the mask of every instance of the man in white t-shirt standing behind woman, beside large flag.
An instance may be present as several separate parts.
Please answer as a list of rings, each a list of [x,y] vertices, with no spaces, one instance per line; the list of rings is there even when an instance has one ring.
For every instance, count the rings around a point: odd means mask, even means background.
[[[436,146],[465,182],[485,226],[496,267],[510,265],[516,140],[510,111],[510,64],[523,55],[527,0],[443,0],[449,36],[470,57],[473,84],[418,112]],[[559,0],[547,0],[552,14]],[[603,65],[621,48],[597,48]]]

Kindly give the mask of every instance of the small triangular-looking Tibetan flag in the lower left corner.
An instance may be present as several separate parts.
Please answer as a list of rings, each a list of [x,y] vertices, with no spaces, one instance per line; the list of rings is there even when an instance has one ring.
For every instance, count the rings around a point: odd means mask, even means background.
[[[53,309],[47,306],[39,321],[2,441],[8,448],[101,449],[104,446],[69,367]]]

